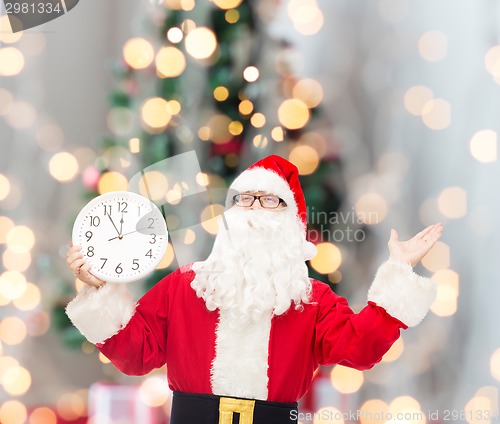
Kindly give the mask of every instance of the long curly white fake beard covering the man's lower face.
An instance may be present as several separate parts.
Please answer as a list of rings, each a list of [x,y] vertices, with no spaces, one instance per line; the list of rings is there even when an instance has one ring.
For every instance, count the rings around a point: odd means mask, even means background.
[[[300,309],[311,293],[304,227],[289,209],[233,207],[224,213],[212,253],[193,264],[191,287],[210,311],[228,311],[232,323]]]

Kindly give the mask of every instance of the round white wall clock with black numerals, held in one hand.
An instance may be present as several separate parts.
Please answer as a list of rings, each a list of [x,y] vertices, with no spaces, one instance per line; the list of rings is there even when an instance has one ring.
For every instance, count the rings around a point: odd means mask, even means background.
[[[90,272],[112,283],[130,283],[153,271],[163,258],[168,234],[158,207],[128,191],[91,200],[73,226],[73,245],[81,246]]]

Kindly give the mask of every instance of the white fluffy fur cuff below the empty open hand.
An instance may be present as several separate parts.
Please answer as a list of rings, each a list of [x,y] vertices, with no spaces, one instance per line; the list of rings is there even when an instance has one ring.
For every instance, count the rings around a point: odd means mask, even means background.
[[[434,281],[415,274],[408,264],[388,260],[378,269],[368,300],[408,327],[414,327],[427,315],[436,292]]]

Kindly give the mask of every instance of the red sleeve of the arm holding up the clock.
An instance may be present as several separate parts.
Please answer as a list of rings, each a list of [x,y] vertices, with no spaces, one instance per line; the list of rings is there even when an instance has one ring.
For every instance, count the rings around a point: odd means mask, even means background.
[[[121,372],[144,375],[165,364],[169,286],[175,271],[154,285],[137,303],[128,324],[119,333],[97,344]]]

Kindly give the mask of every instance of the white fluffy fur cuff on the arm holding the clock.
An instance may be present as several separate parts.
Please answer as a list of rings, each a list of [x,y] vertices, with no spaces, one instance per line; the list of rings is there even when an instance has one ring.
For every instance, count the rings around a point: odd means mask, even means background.
[[[91,343],[103,343],[125,327],[135,302],[123,284],[107,283],[97,289],[85,286],[66,307],[73,325]]]

